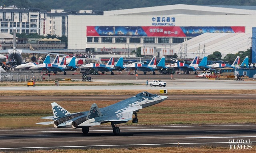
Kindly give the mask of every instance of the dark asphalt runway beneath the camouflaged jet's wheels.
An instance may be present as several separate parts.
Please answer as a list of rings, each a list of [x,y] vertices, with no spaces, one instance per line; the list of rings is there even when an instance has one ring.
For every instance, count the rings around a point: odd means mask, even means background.
[[[12,129],[0,130],[1,151],[33,149],[85,149],[111,147],[167,147],[202,145],[229,147],[229,140],[256,143],[256,124],[119,126],[120,135],[110,126],[81,129]]]

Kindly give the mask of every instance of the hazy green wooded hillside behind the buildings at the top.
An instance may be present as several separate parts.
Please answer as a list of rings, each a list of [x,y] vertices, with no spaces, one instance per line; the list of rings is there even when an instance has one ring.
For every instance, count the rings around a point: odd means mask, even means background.
[[[174,4],[256,6],[255,0],[0,0],[1,6],[64,10],[119,10]]]

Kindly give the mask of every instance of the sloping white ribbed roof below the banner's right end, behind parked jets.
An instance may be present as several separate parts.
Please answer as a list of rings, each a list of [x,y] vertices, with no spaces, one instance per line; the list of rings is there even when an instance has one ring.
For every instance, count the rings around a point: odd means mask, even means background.
[[[236,54],[238,51],[246,51],[248,49],[248,38],[252,37],[250,33],[204,33],[194,37],[186,42],[173,45],[175,53],[187,44],[187,58],[194,58],[196,55],[203,57],[212,54],[214,51],[222,53],[222,57],[227,54]],[[250,41],[250,40],[249,40]],[[182,45],[182,48],[181,48]],[[179,57],[180,55],[178,55]]]

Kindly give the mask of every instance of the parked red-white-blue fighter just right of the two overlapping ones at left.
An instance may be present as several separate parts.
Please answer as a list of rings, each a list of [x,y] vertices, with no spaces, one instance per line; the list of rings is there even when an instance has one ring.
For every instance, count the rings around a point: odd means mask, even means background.
[[[124,70],[124,61],[123,61],[123,57],[120,57],[116,63],[116,65],[114,64],[114,57],[110,57],[108,63],[106,65],[103,64],[95,64],[95,63],[89,63],[89,64],[85,64],[85,65],[81,65],[80,68],[97,68],[98,71],[102,71],[102,74],[104,74],[104,72],[109,72],[111,71],[111,75],[114,75],[113,71],[122,71]]]

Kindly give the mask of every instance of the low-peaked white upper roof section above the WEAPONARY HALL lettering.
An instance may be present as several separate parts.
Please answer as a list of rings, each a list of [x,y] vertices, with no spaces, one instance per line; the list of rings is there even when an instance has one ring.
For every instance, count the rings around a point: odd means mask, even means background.
[[[237,8],[224,8],[214,6],[197,6],[197,5],[166,5],[154,6],[147,8],[133,8],[125,10],[104,11],[104,16],[113,15],[256,15],[256,10],[245,10]]]

